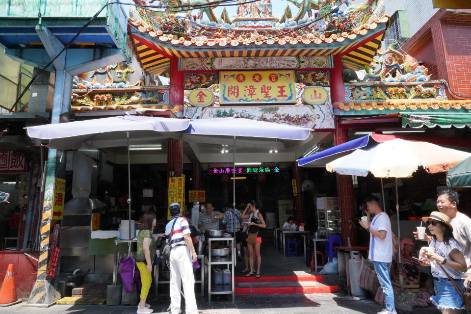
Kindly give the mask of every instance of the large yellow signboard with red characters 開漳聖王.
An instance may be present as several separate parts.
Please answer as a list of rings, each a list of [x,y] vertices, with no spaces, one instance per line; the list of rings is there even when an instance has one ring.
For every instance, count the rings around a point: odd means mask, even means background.
[[[295,103],[294,71],[220,72],[220,104]]]

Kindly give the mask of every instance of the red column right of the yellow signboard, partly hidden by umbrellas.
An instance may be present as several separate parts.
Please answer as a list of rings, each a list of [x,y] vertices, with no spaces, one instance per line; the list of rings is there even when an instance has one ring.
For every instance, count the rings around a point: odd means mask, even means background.
[[[334,55],[334,68],[330,71],[330,90],[333,103],[345,102],[345,90],[342,76],[341,55]],[[348,142],[348,129],[341,129],[337,125],[334,131],[334,144],[339,145]],[[350,224],[355,221],[355,198],[353,191],[352,176],[337,175],[337,196],[339,198],[340,228],[343,244],[347,244],[347,237],[350,237],[352,245],[357,244],[355,227]]]

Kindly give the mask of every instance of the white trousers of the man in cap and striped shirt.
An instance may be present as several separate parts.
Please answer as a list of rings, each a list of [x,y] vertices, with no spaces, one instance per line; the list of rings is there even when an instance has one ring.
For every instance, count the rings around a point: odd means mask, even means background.
[[[191,252],[185,246],[172,248],[170,253],[170,313],[180,314],[182,309],[180,287],[183,282],[185,295],[185,313],[198,314],[195,299],[195,277],[193,275],[193,262]]]

